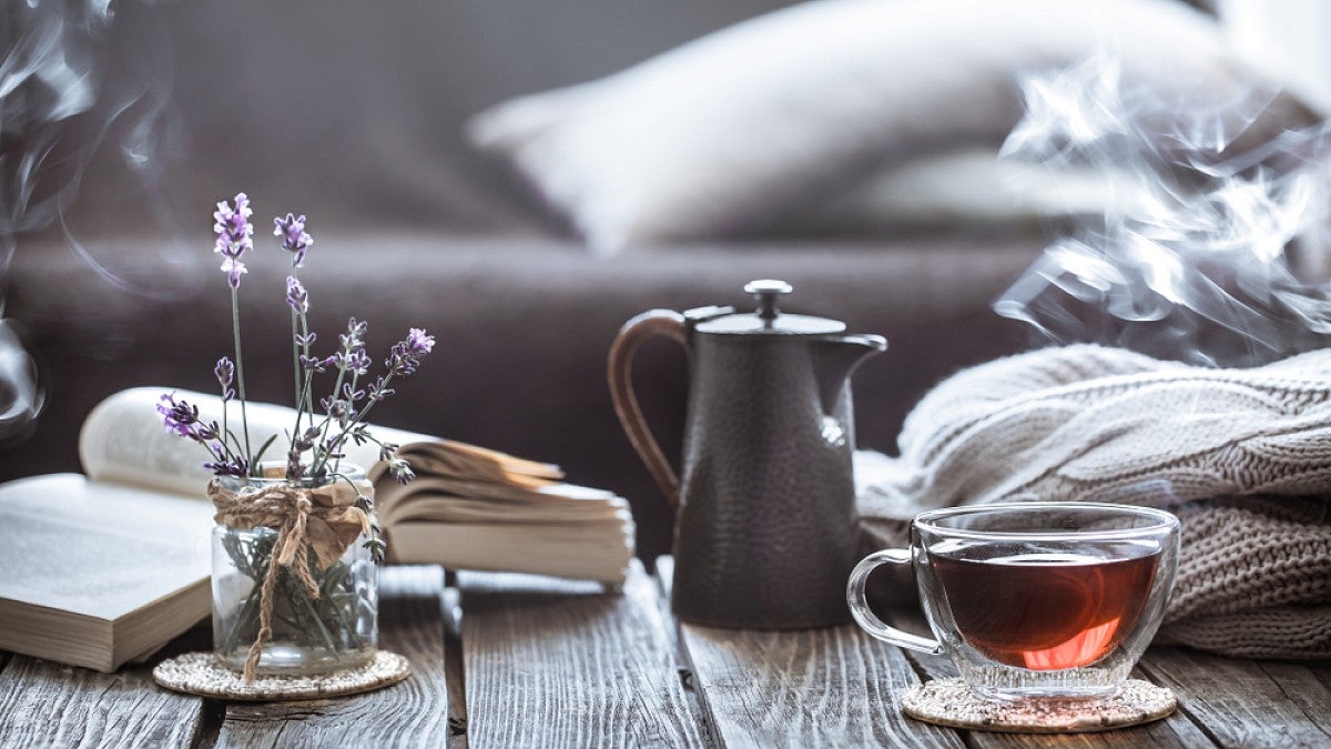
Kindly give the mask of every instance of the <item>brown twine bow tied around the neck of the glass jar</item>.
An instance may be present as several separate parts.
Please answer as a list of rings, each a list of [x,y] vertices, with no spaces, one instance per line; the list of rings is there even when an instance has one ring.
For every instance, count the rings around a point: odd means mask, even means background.
[[[293,569],[310,597],[318,600],[319,586],[310,574],[309,553],[314,552],[315,568],[322,572],[341,558],[358,536],[370,532],[369,516],[354,506],[357,497],[369,490],[370,485],[365,481],[354,485],[337,481],[317,488],[274,484],[240,490],[222,486],[217,480],[209,482],[208,498],[217,509],[213,518],[220,525],[238,530],[277,530],[273,556],[260,588],[258,636],[245,658],[246,684],[252,684],[258,674],[264,644],[273,637],[273,589],[277,586],[278,566]]]

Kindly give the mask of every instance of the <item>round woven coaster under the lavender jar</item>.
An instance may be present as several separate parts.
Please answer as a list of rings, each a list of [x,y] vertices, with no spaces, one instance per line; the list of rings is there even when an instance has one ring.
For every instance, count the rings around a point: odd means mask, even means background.
[[[245,684],[241,674],[222,665],[212,653],[185,653],[153,669],[153,681],[186,694],[221,700],[311,700],[373,692],[411,674],[411,664],[397,653],[378,650],[363,666],[323,676],[265,676]]]

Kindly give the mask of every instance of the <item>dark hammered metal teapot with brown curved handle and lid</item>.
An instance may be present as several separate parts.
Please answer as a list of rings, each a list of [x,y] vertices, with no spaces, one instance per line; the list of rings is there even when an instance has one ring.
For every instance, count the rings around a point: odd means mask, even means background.
[[[783,315],[784,281],[752,281],[755,313],[654,309],[610,349],[610,388],[630,441],[677,509],[675,614],[711,626],[788,629],[849,621],[858,560],[849,377],[888,345],[845,324]],[[643,421],[630,382],[639,344],[689,355],[683,474]]]

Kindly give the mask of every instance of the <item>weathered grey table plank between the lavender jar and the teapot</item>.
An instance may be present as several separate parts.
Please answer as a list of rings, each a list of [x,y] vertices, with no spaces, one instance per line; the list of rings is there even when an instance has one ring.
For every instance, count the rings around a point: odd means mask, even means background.
[[[471,746],[701,746],[658,594],[462,573]]]

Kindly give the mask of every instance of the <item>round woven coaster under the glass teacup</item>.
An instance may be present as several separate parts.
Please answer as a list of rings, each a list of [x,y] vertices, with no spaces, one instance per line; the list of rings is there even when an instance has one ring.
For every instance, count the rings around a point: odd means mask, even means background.
[[[1004,733],[1087,733],[1158,721],[1178,700],[1167,686],[1130,678],[1109,700],[1026,700],[997,702],[976,694],[960,678],[926,681],[901,697],[901,712],[950,728]]]

